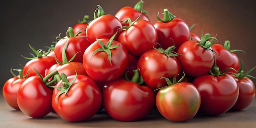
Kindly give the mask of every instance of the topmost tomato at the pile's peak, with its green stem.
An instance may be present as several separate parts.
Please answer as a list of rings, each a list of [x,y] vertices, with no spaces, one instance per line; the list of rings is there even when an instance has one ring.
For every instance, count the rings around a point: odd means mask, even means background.
[[[115,17],[122,21],[122,26],[129,26],[128,22],[124,22],[127,18],[130,18],[132,22],[137,20],[137,18],[139,18],[138,20],[147,20],[150,22],[150,19],[146,15],[146,13],[148,12],[142,10],[142,4],[143,2],[139,1],[137,4],[135,4],[133,8],[130,6],[122,7],[121,9],[119,9],[119,11],[117,11]]]

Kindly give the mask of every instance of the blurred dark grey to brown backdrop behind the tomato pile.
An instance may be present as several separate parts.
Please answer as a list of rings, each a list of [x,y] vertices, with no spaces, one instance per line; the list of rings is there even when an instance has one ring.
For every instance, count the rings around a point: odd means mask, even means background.
[[[230,40],[231,49],[244,61],[244,70],[256,66],[256,1],[255,0],[143,0],[144,10],[157,21],[157,13],[167,8],[189,26],[192,33],[217,34],[219,44]],[[52,45],[56,36],[65,36],[68,27],[84,15],[93,19],[94,10],[101,5],[106,14],[125,6],[134,7],[139,0],[0,0],[0,87],[12,77],[10,69],[20,69],[31,57],[29,44],[37,49]],[[17,72],[15,72],[17,73]],[[256,76],[256,70],[250,73]],[[256,79],[252,79],[256,83]],[[2,91],[1,91],[2,92]]]

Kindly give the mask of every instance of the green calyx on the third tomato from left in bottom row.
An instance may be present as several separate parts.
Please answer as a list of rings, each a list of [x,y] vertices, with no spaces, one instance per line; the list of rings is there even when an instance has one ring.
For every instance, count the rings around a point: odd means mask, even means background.
[[[60,90],[60,92],[58,92],[58,94],[56,95],[55,97],[55,103],[57,103],[56,99],[63,93],[65,93],[65,95],[67,95],[67,92],[68,90],[70,89],[70,87],[73,85],[74,81],[76,80],[77,78],[77,72],[76,72],[76,76],[75,78],[69,82],[68,79],[67,79],[67,76],[64,74],[64,73],[61,73],[61,79],[62,79],[62,87],[56,87],[56,86],[50,86],[52,88],[56,88],[58,90]]]

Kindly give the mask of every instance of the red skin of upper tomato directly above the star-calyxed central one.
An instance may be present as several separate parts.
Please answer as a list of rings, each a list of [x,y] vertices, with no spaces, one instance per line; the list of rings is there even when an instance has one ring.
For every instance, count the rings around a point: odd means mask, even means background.
[[[88,40],[93,43],[97,39],[108,38],[110,39],[119,28],[121,28],[121,22],[113,15],[105,14],[94,20],[92,20],[86,28],[86,36]],[[119,34],[123,30],[119,29],[114,40],[118,39]]]

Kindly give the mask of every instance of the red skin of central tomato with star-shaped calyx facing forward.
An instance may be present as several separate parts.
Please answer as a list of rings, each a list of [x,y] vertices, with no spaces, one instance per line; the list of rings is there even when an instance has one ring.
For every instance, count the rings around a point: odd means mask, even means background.
[[[103,45],[106,45],[109,39],[99,39]],[[120,43],[113,40],[111,46],[119,45]],[[124,74],[128,63],[129,57],[126,48],[120,44],[115,49],[110,49],[111,63],[108,55],[104,51],[97,52],[93,55],[94,51],[102,46],[98,41],[90,45],[83,54],[83,66],[88,76],[96,81],[112,81]],[[92,56],[93,55],[93,56]]]

